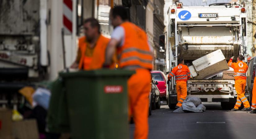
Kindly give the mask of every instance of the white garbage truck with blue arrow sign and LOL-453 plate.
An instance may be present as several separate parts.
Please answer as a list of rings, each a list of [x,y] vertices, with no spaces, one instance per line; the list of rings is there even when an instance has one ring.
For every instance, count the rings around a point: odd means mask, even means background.
[[[159,36],[159,51],[164,52],[166,57],[166,74],[178,65],[178,58],[183,58],[191,74],[205,74],[187,81],[188,96],[198,97],[204,104],[233,107],[237,97],[233,69],[213,73],[209,68],[204,70],[202,67],[208,64],[212,70],[226,68],[225,63],[230,57],[239,54],[247,62],[246,9],[236,2],[209,6],[183,6],[182,2],[177,2],[169,6],[167,15],[167,37]],[[216,50],[222,52],[220,56]],[[218,58],[204,57],[207,54]],[[218,61],[221,57],[225,62]],[[175,77],[168,84],[167,103],[170,108],[174,108],[177,103]],[[247,89],[245,95],[250,100],[251,95]]]

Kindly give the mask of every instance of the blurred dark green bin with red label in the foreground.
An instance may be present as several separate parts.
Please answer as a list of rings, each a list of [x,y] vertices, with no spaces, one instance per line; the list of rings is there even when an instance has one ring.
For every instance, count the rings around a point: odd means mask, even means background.
[[[128,139],[128,70],[60,73],[72,139]]]

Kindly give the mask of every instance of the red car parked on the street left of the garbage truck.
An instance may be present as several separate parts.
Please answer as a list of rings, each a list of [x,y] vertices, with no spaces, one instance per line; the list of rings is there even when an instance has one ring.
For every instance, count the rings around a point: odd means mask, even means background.
[[[160,91],[160,97],[166,98],[166,75],[162,71],[151,71],[151,75],[158,82],[157,88]]]

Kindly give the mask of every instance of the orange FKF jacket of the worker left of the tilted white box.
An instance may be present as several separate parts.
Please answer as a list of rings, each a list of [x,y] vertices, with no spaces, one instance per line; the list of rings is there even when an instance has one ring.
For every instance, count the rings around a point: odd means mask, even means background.
[[[175,81],[187,81],[190,79],[190,71],[188,69],[188,66],[179,64],[178,66],[174,67],[171,72],[169,72],[168,77],[175,76]]]

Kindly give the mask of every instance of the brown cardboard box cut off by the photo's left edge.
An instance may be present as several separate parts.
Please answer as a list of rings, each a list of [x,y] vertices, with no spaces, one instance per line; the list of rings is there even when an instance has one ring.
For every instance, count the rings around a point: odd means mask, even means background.
[[[8,109],[0,109],[0,137],[11,136],[12,128],[12,111]]]

